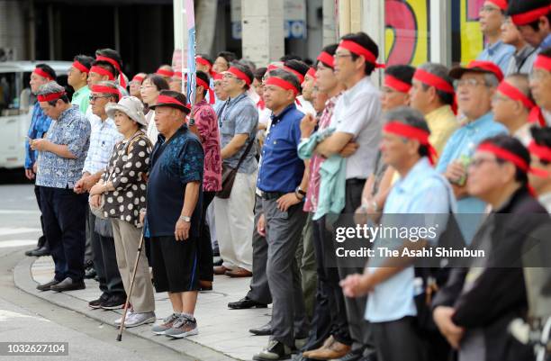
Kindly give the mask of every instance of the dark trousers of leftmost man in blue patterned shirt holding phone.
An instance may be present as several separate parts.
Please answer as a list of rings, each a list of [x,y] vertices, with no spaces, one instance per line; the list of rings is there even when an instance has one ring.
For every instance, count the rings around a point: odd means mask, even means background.
[[[84,277],[87,203],[86,194],[41,186],[44,230],[58,281],[66,277],[80,281]]]

